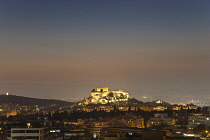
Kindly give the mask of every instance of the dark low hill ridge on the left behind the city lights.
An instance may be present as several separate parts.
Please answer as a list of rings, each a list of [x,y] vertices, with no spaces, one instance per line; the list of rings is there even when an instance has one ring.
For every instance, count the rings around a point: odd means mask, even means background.
[[[22,106],[29,105],[39,105],[39,106],[48,106],[52,104],[65,105],[70,104],[71,102],[54,100],[54,99],[38,99],[30,98],[16,95],[0,95],[0,104],[19,104]]]

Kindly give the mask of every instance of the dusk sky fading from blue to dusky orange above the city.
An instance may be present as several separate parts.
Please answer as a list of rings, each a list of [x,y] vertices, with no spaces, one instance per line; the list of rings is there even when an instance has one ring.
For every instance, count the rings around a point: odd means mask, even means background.
[[[208,0],[2,0],[0,93],[210,93]]]

